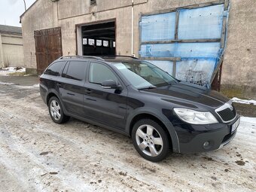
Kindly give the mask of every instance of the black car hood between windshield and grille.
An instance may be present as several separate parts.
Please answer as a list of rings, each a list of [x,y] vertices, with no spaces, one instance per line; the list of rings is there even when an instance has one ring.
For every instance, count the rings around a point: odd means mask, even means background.
[[[214,108],[218,108],[230,100],[217,91],[209,90],[205,87],[200,87],[198,85],[189,84],[182,81],[178,82],[177,84],[171,84],[169,86],[157,87],[144,91],[149,93],[157,93],[163,96],[171,96],[177,99],[184,99],[187,100],[187,102],[197,102]],[[164,100],[166,100],[166,97]]]

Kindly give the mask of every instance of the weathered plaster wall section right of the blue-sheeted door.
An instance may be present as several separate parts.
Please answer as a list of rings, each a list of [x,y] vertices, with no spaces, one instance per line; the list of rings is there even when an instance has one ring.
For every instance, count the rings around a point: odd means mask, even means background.
[[[255,8],[255,0],[231,0],[222,84],[256,87]]]

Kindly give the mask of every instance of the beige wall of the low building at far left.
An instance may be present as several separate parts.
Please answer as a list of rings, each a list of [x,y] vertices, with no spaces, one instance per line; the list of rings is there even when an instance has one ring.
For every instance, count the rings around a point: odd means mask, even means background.
[[[0,34],[0,67],[24,66],[22,35]]]

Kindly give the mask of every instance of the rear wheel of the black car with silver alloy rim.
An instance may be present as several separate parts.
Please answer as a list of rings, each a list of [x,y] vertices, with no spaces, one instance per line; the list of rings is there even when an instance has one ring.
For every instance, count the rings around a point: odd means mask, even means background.
[[[63,108],[59,99],[56,96],[50,98],[48,102],[48,109],[51,119],[58,124],[66,123],[69,120],[69,116],[66,116],[63,112]]]

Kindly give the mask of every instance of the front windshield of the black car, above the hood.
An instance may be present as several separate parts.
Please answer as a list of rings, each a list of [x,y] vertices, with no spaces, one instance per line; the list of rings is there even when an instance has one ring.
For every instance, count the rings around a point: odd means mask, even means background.
[[[163,87],[176,82],[175,78],[150,62],[133,60],[130,62],[116,62],[113,65],[138,90]]]

